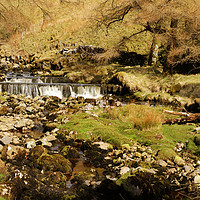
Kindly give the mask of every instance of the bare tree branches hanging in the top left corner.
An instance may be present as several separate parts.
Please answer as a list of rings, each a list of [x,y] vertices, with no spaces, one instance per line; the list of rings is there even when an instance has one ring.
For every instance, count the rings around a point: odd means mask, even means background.
[[[34,17],[39,19],[38,10],[42,18],[42,27],[48,19],[52,20],[50,5],[51,2],[45,0],[1,0],[0,37],[9,39],[13,34],[27,30]]]

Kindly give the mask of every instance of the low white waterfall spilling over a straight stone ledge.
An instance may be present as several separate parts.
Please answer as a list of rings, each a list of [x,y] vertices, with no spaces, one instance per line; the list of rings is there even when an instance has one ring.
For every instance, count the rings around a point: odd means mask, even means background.
[[[54,83],[55,77],[48,79],[31,76],[29,73],[12,74],[9,73],[5,82],[0,82],[0,91],[10,94],[24,94],[27,97],[34,98],[36,96],[57,96],[84,98],[99,98],[102,96],[102,88],[100,85],[91,84],[73,84],[58,83],[58,79]],[[48,80],[48,82],[45,82]]]

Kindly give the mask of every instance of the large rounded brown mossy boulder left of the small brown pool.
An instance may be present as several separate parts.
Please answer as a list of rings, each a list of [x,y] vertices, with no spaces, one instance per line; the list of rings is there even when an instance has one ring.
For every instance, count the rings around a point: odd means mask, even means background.
[[[72,163],[60,154],[43,154],[36,161],[36,167],[50,171],[60,171],[66,174],[72,173]]]

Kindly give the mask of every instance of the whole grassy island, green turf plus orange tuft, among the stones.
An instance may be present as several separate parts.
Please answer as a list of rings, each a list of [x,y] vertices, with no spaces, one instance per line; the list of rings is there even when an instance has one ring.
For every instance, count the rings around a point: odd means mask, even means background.
[[[162,125],[161,119],[169,118],[168,114],[162,114],[162,110],[163,108],[127,105],[107,112],[93,111],[98,117],[77,113],[68,116],[69,122],[58,125],[58,128],[61,132],[73,131],[75,134],[72,137],[78,139],[100,139],[116,146],[133,145],[136,142],[150,145],[153,150],[159,151],[160,157],[175,156],[173,149],[176,143],[185,143],[187,140],[188,150],[195,152],[198,147],[191,134],[194,125]]]

